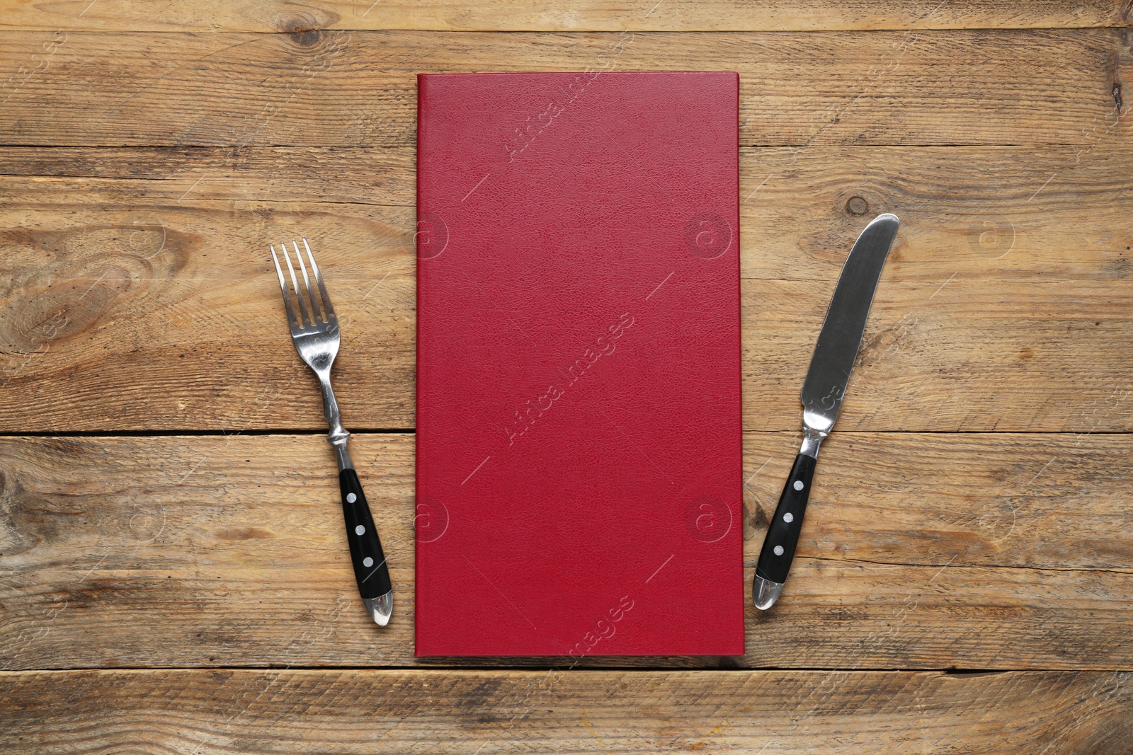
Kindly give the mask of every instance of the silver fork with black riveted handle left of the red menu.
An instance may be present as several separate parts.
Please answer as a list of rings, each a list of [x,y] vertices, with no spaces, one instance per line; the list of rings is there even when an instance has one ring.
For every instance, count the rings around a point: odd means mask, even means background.
[[[283,277],[283,268],[275,254],[275,244],[267,246],[272,250],[272,261],[275,263],[275,272],[280,276],[280,291],[283,293],[283,306],[287,308],[287,320],[288,325],[291,326],[291,340],[295,342],[295,349],[307,367],[315,370],[318,384],[323,389],[323,414],[326,417],[326,423],[331,426],[326,439],[334,447],[334,455],[339,462],[342,514],[346,517],[347,541],[350,543],[350,560],[353,561],[358,592],[361,593],[361,601],[370,617],[380,626],[385,626],[393,614],[393,587],[390,584],[390,570],[385,565],[385,554],[382,552],[382,541],[374,527],[374,517],[370,516],[369,506],[366,504],[366,495],[361,491],[358,473],[355,471],[350,452],[347,449],[350,434],[342,427],[339,403],[334,400],[334,392],[331,389],[331,364],[334,363],[334,357],[339,353],[339,319],[334,316],[331,297],[326,293],[323,275],[318,272],[318,265],[315,264],[315,256],[310,254],[307,239],[303,240],[303,246],[307,250],[307,259],[310,261],[310,272],[315,277],[317,289],[310,285],[307,265],[299,251],[299,243],[295,239],[291,240],[291,243],[295,247],[296,259],[299,260],[299,269],[303,272],[301,289],[295,276],[295,267],[291,265],[287,242],[281,243],[280,248],[283,251],[283,259],[287,261],[288,273],[290,273],[290,289]],[[296,303],[299,304],[298,317],[296,317]]]

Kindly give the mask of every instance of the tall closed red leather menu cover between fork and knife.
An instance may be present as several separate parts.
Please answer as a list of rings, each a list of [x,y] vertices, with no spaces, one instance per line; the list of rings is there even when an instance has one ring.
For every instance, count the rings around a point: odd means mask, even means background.
[[[742,653],[738,75],[418,94],[417,655]]]

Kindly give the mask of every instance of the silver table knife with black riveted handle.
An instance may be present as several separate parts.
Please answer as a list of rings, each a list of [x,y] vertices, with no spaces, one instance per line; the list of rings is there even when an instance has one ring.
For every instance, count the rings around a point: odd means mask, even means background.
[[[783,486],[775,518],[767,527],[751,585],[756,608],[761,610],[770,608],[783,592],[799,542],[807,499],[810,498],[818,447],[829,435],[842,409],[842,397],[858,359],[862,333],[866,332],[874,291],[900,223],[896,215],[886,213],[866,226],[846,257],[830,307],[826,310],[826,320],[802,384],[802,447]]]

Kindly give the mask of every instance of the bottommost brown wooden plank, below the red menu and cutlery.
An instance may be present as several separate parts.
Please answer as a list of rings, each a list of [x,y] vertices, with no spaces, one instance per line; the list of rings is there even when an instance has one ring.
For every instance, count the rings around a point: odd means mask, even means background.
[[[1127,752],[1128,672],[0,674],[18,753]],[[906,750],[906,748],[909,748]]]

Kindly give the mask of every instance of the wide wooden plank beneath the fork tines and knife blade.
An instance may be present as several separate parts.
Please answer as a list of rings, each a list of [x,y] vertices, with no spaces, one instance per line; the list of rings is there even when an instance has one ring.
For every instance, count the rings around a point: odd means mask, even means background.
[[[888,211],[904,225],[841,430],[1127,431],[1133,153],[1114,138],[744,149],[746,427],[798,428],[855,213]],[[297,233],[343,316],[347,421],[411,428],[412,171],[401,148],[0,151],[0,430],[321,428],[264,255]]]

